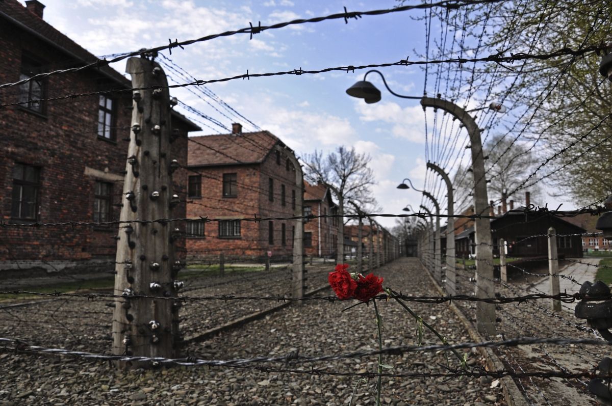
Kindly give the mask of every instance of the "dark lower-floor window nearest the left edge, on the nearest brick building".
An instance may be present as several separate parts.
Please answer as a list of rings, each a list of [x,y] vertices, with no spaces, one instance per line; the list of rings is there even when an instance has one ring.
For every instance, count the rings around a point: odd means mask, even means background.
[[[34,220],[38,213],[40,168],[21,163],[13,167],[12,218]]]

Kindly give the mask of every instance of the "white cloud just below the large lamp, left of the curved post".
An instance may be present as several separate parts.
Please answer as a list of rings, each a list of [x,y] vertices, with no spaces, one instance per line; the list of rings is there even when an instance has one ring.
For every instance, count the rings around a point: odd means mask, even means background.
[[[365,122],[382,121],[390,124],[390,132],[395,137],[419,144],[425,142],[425,115],[421,106],[401,108],[391,101],[367,105],[359,100],[356,102],[356,111],[360,114],[359,118]]]

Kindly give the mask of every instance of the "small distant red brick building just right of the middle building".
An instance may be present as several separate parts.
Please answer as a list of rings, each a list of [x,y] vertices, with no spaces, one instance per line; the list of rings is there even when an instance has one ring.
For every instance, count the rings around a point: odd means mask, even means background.
[[[318,183],[304,181],[304,215],[337,215],[338,205],[332,199],[332,191]],[[304,253],[310,256],[335,258],[338,249],[338,224],[336,217],[319,217],[304,225]]]

